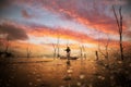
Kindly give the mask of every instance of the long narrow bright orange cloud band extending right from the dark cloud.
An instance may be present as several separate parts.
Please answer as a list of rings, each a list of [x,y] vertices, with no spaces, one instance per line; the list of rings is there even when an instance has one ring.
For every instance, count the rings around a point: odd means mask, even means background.
[[[43,28],[37,28],[37,29],[29,29],[28,34],[37,36],[37,37],[45,37],[45,36],[50,36],[50,37],[60,37],[63,39],[72,39],[72,40],[76,40],[80,42],[94,42],[96,41],[94,38],[91,38],[90,36],[79,33],[79,32],[74,32],[74,30],[70,30],[70,29],[64,29],[64,28],[47,28],[47,27],[43,27]]]

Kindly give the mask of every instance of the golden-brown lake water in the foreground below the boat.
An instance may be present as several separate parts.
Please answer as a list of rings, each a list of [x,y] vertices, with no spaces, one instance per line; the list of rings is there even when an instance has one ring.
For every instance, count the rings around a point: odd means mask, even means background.
[[[114,76],[93,60],[10,59],[0,64],[0,87],[114,87]]]

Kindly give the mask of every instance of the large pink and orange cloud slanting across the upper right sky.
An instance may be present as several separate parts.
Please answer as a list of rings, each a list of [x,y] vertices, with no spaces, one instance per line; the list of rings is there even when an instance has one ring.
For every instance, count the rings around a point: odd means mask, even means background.
[[[75,20],[86,25],[87,28],[95,28],[108,34],[116,34],[118,32],[114,12],[110,10],[112,4],[90,0],[72,0],[68,4],[64,3],[64,0],[53,0],[51,2],[45,0],[44,2],[46,4],[43,3],[43,8],[57,14],[62,13],[63,18]],[[109,5],[110,8],[108,8]],[[123,28],[126,27],[123,22]]]

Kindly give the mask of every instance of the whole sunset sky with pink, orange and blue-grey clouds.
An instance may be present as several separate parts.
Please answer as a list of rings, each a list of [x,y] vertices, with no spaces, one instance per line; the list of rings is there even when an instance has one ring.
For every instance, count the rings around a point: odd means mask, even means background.
[[[131,39],[130,0],[0,0],[0,38],[22,47],[59,45],[96,48],[119,41],[112,12],[122,7],[123,41]],[[119,14],[118,14],[119,15]],[[72,47],[73,48],[73,47]]]

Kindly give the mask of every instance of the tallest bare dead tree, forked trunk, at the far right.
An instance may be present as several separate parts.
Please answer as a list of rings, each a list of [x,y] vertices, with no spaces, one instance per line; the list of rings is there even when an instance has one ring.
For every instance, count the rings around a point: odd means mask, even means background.
[[[117,26],[118,26],[118,33],[119,33],[119,47],[120,47],[120,58],[123,60],[123,47],[122,47],[122,14],[121,14],[121,7],[119,8],[119,18],[116,13],[116,10],[112,5],[114,14],[116,17]]]

